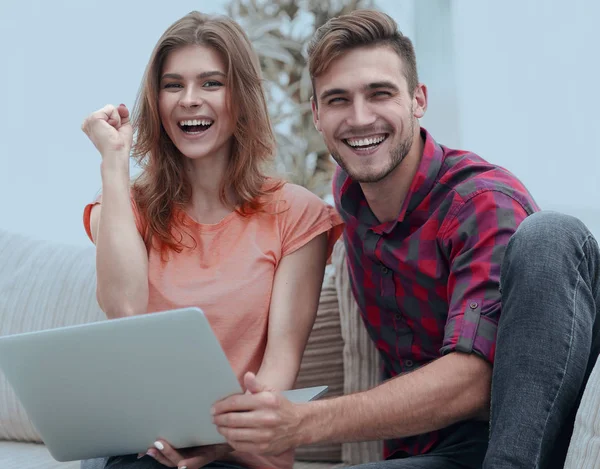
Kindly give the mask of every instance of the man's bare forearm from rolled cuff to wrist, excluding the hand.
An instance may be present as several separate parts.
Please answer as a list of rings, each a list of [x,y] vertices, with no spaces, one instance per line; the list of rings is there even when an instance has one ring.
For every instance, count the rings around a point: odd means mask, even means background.
[[[487,415],[491,365],[445,355],[368,391],[299,406],[300,443],[401,438]]]

